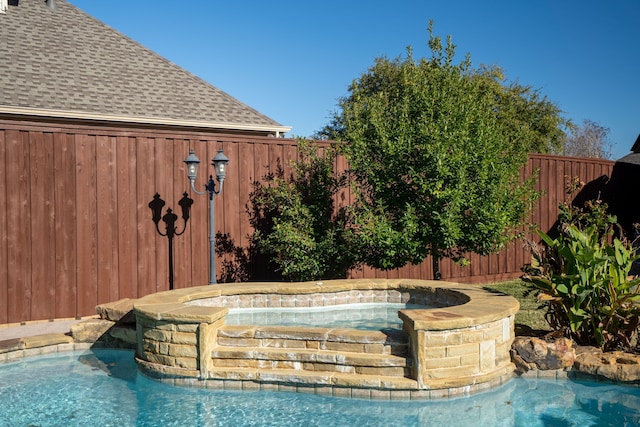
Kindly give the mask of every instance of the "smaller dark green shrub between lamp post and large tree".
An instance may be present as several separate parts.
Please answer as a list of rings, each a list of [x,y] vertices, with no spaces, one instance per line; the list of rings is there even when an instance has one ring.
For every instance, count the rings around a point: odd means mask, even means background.
[[[284,279],[292,281],[346,277],[356,265],[353,230],[345,207],[336,209],[346,174],[336,174],[334,148],[318,152],[298,142],[300,157],[286,178],[282,168],[254,184],[250,195],[252,243]]]

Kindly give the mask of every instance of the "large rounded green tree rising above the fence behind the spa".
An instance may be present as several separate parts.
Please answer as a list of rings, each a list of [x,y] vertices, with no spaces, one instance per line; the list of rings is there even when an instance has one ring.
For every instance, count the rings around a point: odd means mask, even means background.
[[[496,252],[518,235],[536,196],[520,169],[536,142],[501,119],[515,113],[496,100],[496,70],[471,68],[468,55],[455,64],[451,39],[443,45],[431,23],[429,34],[431,58],[409,48],[377,59],[325,135],[345,141],[357,183],[360,259],[392,269],[431,255],[439,278],[442,257]],[[505,99],[516,97],[510,90]]]

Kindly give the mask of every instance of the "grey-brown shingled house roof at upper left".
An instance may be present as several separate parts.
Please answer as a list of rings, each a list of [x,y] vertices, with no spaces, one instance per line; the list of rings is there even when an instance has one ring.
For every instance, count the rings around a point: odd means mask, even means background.
[[[10,0],[0,13],[0,114],[290,130],[66,1],[55,5]]]

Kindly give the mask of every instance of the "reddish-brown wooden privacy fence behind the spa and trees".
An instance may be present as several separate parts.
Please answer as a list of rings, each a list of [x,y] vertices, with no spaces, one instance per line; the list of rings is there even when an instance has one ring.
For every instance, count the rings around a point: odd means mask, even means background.
[[[208,201],[189,190],[183,160],[190,148],[202,161],[199,190],[224,149],[230,162],[215,198],[216,229],[246,248],[252,183],[277,164],[288,174],[298,155],[295,140],[0,120],[0,324],[92,315],[97,304],[168,289],[168,242],[156,233],[148,207],[156,192],[176,212],[185,191],[194,199],[187,230],[173,242],[174,280],[176,288],[206,284]],[[344,159],[336,166],[346,167]],[[539,169],[545,191],[532,221],[552,227],[565,176],[589,182],[612,167],[531,155],[525,173]],[[492,281],[516,277],[529,258],[515,242],[497,255],[471,256],[468,267],[443,260],[441,269],[445,280]],[[430,279],[431,260],[351,275]]]

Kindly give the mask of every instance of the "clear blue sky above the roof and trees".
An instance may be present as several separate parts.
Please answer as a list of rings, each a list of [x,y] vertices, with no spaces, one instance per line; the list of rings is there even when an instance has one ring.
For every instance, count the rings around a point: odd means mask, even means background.
[[[430,54],[427,23],[475,66],[499,65],[567,118],[640,134],[638,0],[70,0],[107,25],[309,136],[376,57]]]

